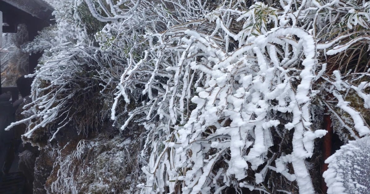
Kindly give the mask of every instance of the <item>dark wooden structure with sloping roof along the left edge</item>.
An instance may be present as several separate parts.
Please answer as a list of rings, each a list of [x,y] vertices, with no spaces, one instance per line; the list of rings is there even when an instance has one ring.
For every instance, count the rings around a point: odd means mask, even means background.
[[[0,11],[0,34],[17,33],[18,25],[25,24],[29,41],[38,35],[38,31],[53,23],[50,20],[53,7],[43,0],[0,0]],[[34,71],[41,55],[42,53],[36,53],[29,56],[28,73]],[[15,157],[18,155],[20,141],[17,140],[12,130],[4,130],[11,122],[14,122],[17,108],[15,104],[17,103],[13,102],[18,99],[19,88],[1,87],[0,83],[0,95],[5,92],[11,93],[11,101],[1,100],[0,102],[0,193],[32,193],[30,190],[23,189],[26,188],[24,187],[26,177],[19,172],[18,161]]]

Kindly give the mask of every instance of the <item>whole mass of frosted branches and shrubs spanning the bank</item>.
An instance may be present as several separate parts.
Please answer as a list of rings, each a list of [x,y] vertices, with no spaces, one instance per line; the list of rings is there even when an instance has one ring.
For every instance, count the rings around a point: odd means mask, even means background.
[[[324,112],[344,142],[370,135],[369,2],[53,4],[57,24],[27,47],[44,50],[33,102],[13,125],[28,123],[23,140],[40,147],[64,126],[84,134],[108,119],[122,134],[144,127],[141,153],[130,155],[145,176],[131,186],[136,193],[311,194]],[[84,141],[60,164],[55,190],[81,192],[73,173],[87,167],[68,167],[83,161],[81,146],[94,146]],[[113,166],[127,160],[116,151]]]

